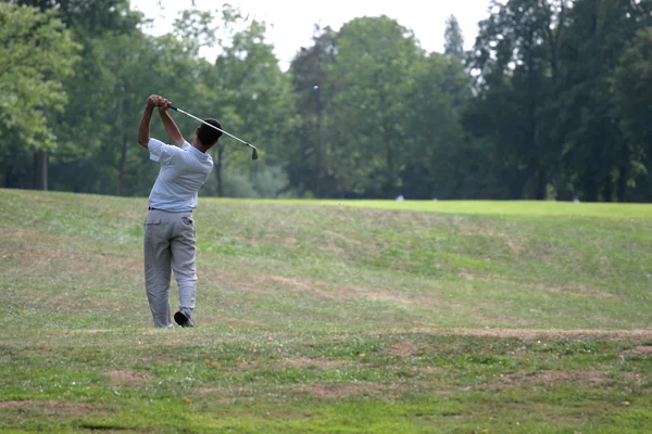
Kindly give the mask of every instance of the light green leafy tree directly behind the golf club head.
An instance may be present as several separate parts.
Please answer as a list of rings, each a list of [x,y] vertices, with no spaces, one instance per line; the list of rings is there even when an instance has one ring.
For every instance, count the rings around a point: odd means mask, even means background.
[[[225,173],[230,169],[246,174],[253,194],[274,194],[265,177],[285,163],[291,122],[290,81],[280,71],[274,46],[265,40],[265,23],[241,18],[233,11],[223,17],[225,24],[237,20],[244,28],[218,42],[221,53],[215,63],[202,68],[198,87],[201,97],[197,100],[204,104],[200,110],[214,113],[226,130],[260,146],[261,159],[252,164],[251,154],[240,143],[226,136],[220,139],[213,146],[216,193],[226,193]],[[260,176],[266,180],[258,181]]]

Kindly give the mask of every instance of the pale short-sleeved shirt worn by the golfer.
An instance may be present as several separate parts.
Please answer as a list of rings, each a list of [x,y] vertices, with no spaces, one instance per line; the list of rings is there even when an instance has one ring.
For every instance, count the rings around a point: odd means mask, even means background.
[[[161,165],[149,196],[149,206],[175,213],[196,208],[197,192],[213,169],[211,155],[186,141],[184,148],[178,148],[150,138],[147,148],[150,159]]]

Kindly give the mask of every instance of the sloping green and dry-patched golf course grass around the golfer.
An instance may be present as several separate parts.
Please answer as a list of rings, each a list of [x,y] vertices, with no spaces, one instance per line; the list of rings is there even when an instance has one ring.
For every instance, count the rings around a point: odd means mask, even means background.
[[[652,431],[651,205],[200,199],[172,330],[146,214],[0,190],[0,432]]]

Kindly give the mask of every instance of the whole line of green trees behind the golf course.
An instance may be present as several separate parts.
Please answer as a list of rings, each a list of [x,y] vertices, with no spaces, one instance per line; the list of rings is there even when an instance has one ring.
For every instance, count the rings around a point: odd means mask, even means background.
[[[149,194],[135,138],[159,93],[259,148],[221,139],[204,195],[650,202],[652,0],[488,5],[468,51],[454,16],[442,52],[359,17],[315,26],[283,71],[228,4],[154,37],[128,0],[3,0],[0,182]]]

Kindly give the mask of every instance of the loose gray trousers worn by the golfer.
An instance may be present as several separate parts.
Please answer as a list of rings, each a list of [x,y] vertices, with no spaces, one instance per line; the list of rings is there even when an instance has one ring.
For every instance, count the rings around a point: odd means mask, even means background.
[[[145,286],[154,327],[171,328],[172,271],[179,288],[179,310],[188,318],[197,294],[196,231],[192,213],[150,209],[145,220]]]

